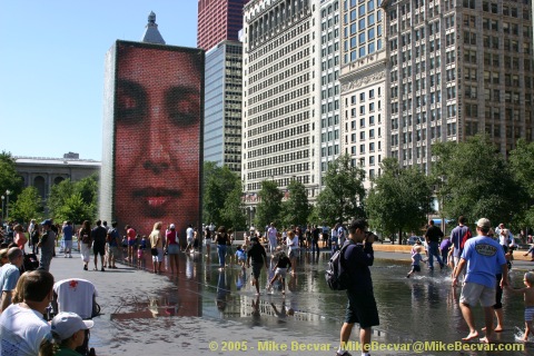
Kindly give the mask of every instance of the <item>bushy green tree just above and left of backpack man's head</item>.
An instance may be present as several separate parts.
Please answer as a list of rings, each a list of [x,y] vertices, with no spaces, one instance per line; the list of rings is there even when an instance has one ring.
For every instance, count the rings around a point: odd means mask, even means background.
[[[339,156],[325,175],[325,188],[317,196],[314,219],[319,221],[348,221],[364,217],[365,171],[350,162],[350,156]]]

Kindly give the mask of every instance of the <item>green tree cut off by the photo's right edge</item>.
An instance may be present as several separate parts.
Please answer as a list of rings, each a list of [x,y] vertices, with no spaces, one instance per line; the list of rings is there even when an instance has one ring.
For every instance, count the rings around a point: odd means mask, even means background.
[[[516,225],[520,228],[534,227],[534,142],[520,139],[510,154],[508,162],[515,181],[524,191],[514,215]]]

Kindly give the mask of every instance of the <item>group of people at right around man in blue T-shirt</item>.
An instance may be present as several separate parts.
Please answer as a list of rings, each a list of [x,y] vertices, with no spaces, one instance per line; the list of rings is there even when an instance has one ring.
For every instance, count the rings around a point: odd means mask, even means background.
[[[425,233],[426,246],[416,240],[412,248],[412,270],[406,277],[421,271],[421,263],[428,263],[428,268],[434,268],[433,257],[436,257],[441,269],[445,266],[452,268],[453,288],[462,287],[459,307],[468,326],[469,334],[464,342],[478,337],[475,327],[473,307],[481,304],[484,309],[485,336],[479,338],[482,343],[491,343],[495,339],[495,333],[504,329],[503,291],[524,295],[525,301],[525,333],[523,340],[528,335],[534,335],[532,322],[534,319],[534,274],[524,276],[524,288],[513,289],[510,287],[508,271],[512,269],[513,251],[517,244],[513,234],[500,224],[492,228],[486,218],[476,221],[476,231],[473,234],[466,225],[465,217],[458,218],[458,225],[451,231],[451,236],[444,236],[443,231],[428,221]],[[426,248],[425,248],[426,247]],[[525,254],[527,256],[534,250]],[[422,253],[426,251],[426,257]],[[494,318],[495,315],[495,318]],[[494,325],[494,319],[496,324]]]

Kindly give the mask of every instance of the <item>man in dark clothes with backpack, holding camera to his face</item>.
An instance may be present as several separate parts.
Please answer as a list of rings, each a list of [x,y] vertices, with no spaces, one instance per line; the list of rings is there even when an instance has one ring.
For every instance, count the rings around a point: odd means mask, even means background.
[[[348,239],[345,243],[349,246],[342,256],[349,280],[347,280],[348,304],[345,323],[339,333],[340,343],[336,352],[336,355],[340,356],[350,356],[345,348],[353,332],[354,323],[358,323],[360,327],[362,355],[368,356],[373,334],[370,327],[379,324],[369,270],[369,266],[373,266],[374,261],[374,235],[366,231],[366,228],[367,221],[364,219],[356,219],[350,222]]]

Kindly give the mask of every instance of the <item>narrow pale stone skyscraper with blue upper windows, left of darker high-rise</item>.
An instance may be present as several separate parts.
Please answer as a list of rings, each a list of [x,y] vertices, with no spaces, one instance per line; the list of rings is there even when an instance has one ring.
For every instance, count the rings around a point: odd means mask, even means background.
[[[343,1],[342,106],[344,154],[367,177],[386,154],[384,10],[380,0]],[[368,185],[367,185],[368,186]]]

